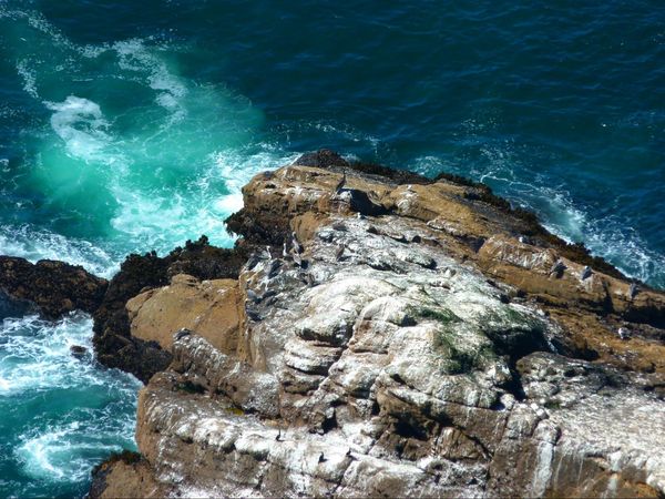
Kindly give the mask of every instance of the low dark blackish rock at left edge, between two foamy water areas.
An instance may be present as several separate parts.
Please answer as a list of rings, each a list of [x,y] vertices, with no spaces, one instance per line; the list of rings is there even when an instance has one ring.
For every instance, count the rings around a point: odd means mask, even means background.
[[[0,256],[0,317],[34,309],[47,319],[73,310],[92,313],[102,302],[108,282],[83,267],[41,259]]]

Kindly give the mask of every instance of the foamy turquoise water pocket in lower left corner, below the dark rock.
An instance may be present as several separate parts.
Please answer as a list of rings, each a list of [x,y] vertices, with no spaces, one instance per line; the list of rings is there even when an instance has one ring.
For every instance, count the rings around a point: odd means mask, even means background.
[[[135,393],[117,370],[76,359],[92,348],[83,315],[57,324],[4,319],[0,328],[0,496],[83,496],[91,464],[135,448]]]

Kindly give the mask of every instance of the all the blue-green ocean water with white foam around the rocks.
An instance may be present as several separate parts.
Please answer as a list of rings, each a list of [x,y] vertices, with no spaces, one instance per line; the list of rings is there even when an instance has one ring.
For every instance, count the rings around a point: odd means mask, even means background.
[[[665,287],[665,3],[0,0],[0,254],[112,276],[323,146],[483,181]],[[0,497],[81,496],[137,381],[0,326]]]

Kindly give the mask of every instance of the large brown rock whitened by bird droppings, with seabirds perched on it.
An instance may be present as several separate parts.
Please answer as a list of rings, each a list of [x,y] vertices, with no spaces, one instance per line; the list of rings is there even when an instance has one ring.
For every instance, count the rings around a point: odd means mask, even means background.
[[[324,152],[243,192],[237,272],[114,295],[171,364],[93,497],[665,496],[663,294],[459,179]]]

